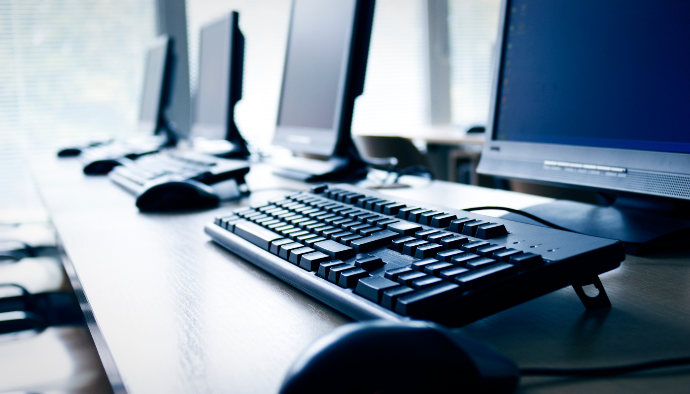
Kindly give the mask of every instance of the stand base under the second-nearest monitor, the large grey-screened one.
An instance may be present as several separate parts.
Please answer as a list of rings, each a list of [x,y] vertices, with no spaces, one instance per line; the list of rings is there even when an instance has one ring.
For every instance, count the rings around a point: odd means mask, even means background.
[[[273,173],[281,177],[305,182],[347,182],[366,177],[366,163],[357,154],[354,146],[346,150],[346,155],[318,157],[314,155],[295,155],[280,158]]]

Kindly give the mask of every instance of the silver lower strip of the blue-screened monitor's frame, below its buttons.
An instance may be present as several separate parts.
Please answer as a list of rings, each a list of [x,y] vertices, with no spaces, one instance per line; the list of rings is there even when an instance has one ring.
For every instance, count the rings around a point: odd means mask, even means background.
[[[487,175],[532,179],[664,197],[690,199],[690,176],[629,168],[627,173],[578,172],[574,168],[544,166],[542,162],[482,158],[477,171]]]

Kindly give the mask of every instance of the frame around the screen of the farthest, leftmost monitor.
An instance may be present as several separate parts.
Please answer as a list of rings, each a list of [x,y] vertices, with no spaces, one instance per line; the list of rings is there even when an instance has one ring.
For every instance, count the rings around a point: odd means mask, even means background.
[[[148,78],[148,75],[146,75],[146,71],[148,71],[148,54],[153,51],[153,50],[159,50],[163,49],[163,69],[161,70],[161,73],[159,74],[160,78],[160,91],[158,92],[157,98],[158,98],[158,105],[156,108],[156,119],[155,121],[150,121],[150,120],[141,120],[141,110],[144,109],[144,99],[146,99],[144,95],[144,90],[141,90],[141,100],[139,101],[139,121],[137,124],[137,132],[140,132],[142,134],[149,134],[149,135],[156,135],[159,132],[159,126],[161,124],[161,117],[163,115],[163,111],[166,106],[166,98],[164,97],[168,90],[170,89],[169,85],[170,83],[170,73],[171,73],[171,68],[172,68],[172,39],[170,39],[170,36],[168,35],[160,35],[154,39],[152,43],[147,47],[146,49],[146,61],[145,61],[145,66],[144,66],[144,83],[142,83],[142,86],[146,86],[146,79]]]

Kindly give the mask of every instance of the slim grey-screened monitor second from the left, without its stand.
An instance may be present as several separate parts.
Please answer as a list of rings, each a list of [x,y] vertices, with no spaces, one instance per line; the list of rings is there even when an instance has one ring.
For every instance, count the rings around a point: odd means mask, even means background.
[[[242,98],[244,37],[239,14],[206,24],[199,34],[199,82],[193,100],[192,137],[233,141],[239,137],[235,103]]]

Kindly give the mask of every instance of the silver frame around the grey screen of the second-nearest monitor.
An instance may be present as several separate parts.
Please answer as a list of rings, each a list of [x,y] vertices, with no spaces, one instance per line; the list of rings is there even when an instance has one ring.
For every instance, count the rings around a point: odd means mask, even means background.
[[[342,140],[341,134],[349,132],[344,130],[343,115],[346,112],[346,104],[349,96],[349,85],[352,77],[353,69],[353,52],[355,50],[355,35],[357,34],[357,22],[359,17],[359,10],[362,8],[362,1],[355,0],[353,10],[353,19],[348,26],[348,43],[344,46],[344,56],[342,59],[341,74],[338,82],[337,99],[335,104],[335,114],[333,126],[331,128],[312,128],[303,126],[282,126],[280,115],[283,110],[282,102],[285,85],[285,70],[288,66],[288,56],[290,54],[290,43],[293,35],[293,22],[295,14],[295,3],[299,0],[293,0],[290,9],[290,26],[288,27],[288,43],[285,50],[285,61],[283,65],[283,77],[281,81],[280,96],[278,100],[278,112],[276,118],[275,134],[273,135],[273,144],[283,146],[292,150],[297,154],[315,155],[317,157],[331,157],[336,151],[338,144]]]

